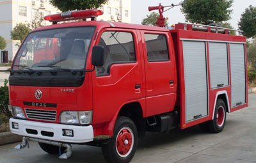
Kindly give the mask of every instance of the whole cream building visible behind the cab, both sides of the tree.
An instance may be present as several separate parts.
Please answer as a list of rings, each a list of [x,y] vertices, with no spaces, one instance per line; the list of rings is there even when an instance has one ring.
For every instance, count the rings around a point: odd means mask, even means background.
[[[131,0],[109,0],[101,10],[104,15],[97,20],[131,22]],[[10,31],[20,22],[31,22],[36,14],[50,15],[60,13],[49,0],[0,0],[0,36],[6,40],[7,46],[1,50],[0,63],[3,62],[3,54],[8,53],[8,60],[12,61],[17,52],[17,43],[10,36]]]

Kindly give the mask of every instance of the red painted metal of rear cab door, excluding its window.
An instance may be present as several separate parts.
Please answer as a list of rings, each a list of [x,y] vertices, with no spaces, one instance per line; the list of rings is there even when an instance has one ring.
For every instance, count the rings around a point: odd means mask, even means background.
[[[170,61],[148,62],[144,33],[165,35],[168,42]],[[146,116],[173,111],[176,100],[176,66],[173,58],[172,37],[159,31],[141,31],[146,81]],[[157,108],[157,109],[156,109]]]

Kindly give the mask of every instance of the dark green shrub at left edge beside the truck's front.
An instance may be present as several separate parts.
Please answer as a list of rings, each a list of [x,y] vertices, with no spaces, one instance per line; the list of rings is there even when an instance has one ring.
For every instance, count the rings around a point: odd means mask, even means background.
[[[0,87],[0,121],[6,122],[12,117],[12,113],[8,110],[9,105],[9,90],[7,86],[7,79],[4,81],[4,86]]]

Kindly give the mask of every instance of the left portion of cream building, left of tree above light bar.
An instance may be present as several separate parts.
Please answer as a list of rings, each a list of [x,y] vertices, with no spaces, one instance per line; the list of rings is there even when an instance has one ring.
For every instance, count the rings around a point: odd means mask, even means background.
[[[3,53],[8,52],[8,60],[12,61],[15,52],[17,52],[18,41],[13,41],[10,36],[10,31],[20,22],[31,22],[36,13],[40,15],[49,15],[60,12],[49,4],[49,0],[0,0],[0,36],[6,40],[6,49],[1,52],[1,59]]]

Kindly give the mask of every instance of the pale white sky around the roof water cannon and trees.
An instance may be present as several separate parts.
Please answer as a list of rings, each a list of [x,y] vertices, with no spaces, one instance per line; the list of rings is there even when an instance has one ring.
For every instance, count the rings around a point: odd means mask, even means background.
[[[131,18],[132,23],[141,24],[142,19],[146,15],[150,15],[148,12],[148,6],[158,6],[161,3],[163,6],[169,6],[173,4],[179,4],[182,0],[131,0]],[[256,6],[255,0],[234,0],[232,9],[233,13],[231,15],[230,22],[231,26],[238,29],[238,22],[240,20],[241,14],[244,12],[248,6]],[[156,10],[155,10],[156,11]],[[153,11],[152,11],[153,12]],[[158,12],[158,11],[156,11]],[[168,17],[169,25],[175,24],[177,22],[185,22],[184,15],[180,12],[180,6],[175,6],[171,10],[164,12],[164,17]]]

